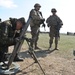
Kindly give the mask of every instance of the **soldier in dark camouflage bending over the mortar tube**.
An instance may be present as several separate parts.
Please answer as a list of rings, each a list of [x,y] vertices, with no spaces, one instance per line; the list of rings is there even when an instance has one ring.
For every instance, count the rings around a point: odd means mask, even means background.
[[[22,19],[10,18],[10,20],[0,23],[0,62],[7,60],[6,53],[8,52],[8,47],[15,46],[17,43],[24,25]],[[17,53],[14,61],[23,61],[23,59],[19,58]]]

